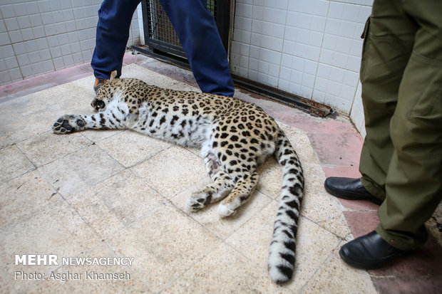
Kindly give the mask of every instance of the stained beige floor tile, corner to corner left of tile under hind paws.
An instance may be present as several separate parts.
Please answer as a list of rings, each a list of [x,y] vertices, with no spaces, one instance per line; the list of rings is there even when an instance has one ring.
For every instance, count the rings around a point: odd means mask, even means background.
[[[143,179],[125,170],[68,199],[101,238],[162,206],[165,199]]]

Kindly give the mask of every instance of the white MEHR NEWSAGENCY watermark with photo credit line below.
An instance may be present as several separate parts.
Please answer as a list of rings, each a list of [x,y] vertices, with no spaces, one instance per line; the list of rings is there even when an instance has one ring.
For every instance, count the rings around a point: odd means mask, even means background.
[[[132,266],[133,257],[61,257],[56,254],[16,254],[16,266]],[[102,268],[101,268],[102,269]],[[127,271],[14,271],[14,280],[130,280]]]

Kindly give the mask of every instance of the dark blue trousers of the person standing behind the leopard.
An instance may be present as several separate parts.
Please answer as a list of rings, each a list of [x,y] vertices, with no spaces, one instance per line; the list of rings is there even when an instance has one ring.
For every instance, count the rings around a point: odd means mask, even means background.
[[[160,0],[173,24],[202,92],[232,96],[227,54],[205,0]],[[98,10],[96,48],[91,65],[96,78],[121,74],[132,16],[140,0],[104,0]]]

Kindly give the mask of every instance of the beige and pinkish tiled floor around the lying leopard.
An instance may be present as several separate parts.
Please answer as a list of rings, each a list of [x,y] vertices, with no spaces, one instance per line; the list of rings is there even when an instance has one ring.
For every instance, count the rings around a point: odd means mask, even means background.
[[[123,76],[195,90],[187,70],[130,53],[124,63]],[[428,221],[433,236],[401,261],[366,272],[340,260],[343,243],[377,224],[374,204],[338,201],[323,188],[328,176],[359,177],[362,139],[346,118],[311,117],[245,90],[235,93],[280,122],[307,178],[295,277],[279,286],[266,268],[281,183],[274,159],[259,168],[252,200],[232,218],[220,219],[216,206],[189,213],[185,199],[210,181],[198,150],[130,131],[53,135],[58,116],[91,112],[92,85],[84,64],[0,87],[1,293],[440,293],[441,209]],[[23,266],[15,254],[133,263]],[[88,280],[86,271],[130,279]],[[21,272],[46,280],[23,280]],[[51,272],[83,276],[63,282],[49,280]]]

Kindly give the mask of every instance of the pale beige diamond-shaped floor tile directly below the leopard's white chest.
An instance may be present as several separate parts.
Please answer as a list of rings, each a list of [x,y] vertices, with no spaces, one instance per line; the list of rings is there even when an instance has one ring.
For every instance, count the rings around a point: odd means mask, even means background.
[[[170,143],[138,132],[125,131],[97,142],[97,146],[123,166],[131,167],[168,148]]]

